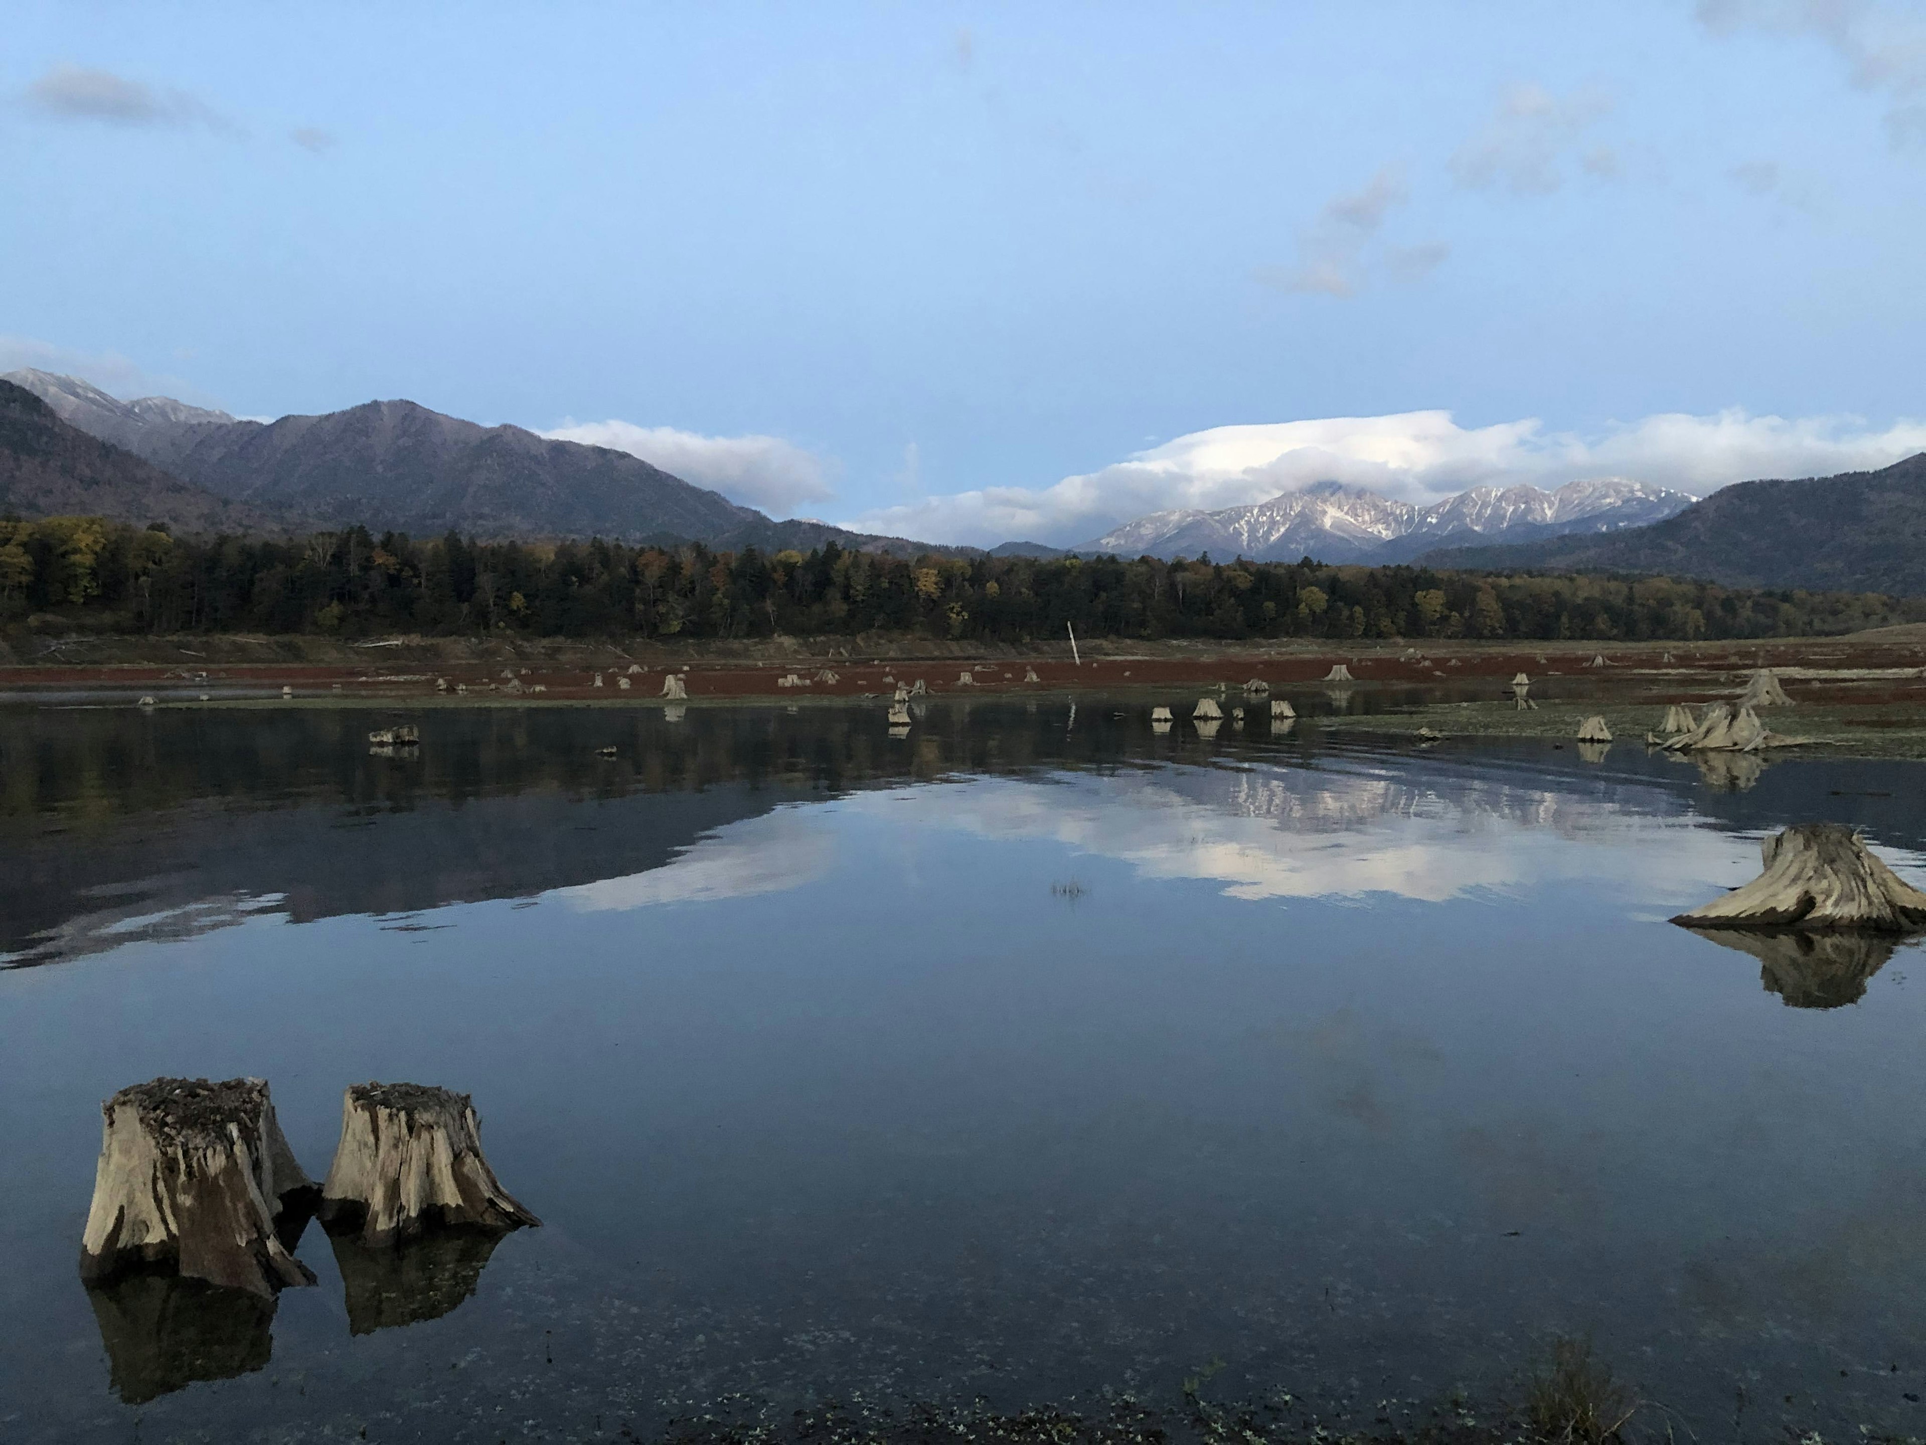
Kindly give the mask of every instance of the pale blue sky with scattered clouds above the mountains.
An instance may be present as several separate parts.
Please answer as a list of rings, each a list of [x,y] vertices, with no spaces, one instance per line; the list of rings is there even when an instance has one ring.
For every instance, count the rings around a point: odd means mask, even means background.
[[[1916,2],[13,0],[0,94],[0,362],[121,395],[961,541],[1926,447]]]

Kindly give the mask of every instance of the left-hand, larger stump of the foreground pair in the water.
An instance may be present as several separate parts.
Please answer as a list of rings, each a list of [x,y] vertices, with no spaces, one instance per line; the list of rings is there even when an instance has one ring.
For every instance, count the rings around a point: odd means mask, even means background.
[[[85,1279],[171,1264],[264,1297],[314,1283],[277,1233],[287,1216],[306,1223],[314,1181],[281,1135],[264,1079],[154,1079],[121,1089],[100,1114]]]

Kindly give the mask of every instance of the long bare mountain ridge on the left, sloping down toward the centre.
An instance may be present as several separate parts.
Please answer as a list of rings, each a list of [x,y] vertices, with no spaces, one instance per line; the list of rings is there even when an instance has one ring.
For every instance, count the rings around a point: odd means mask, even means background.
[[[73,426],[196,486],[314,528],[362,522],[416,536],[703,541],[807,551],[824,541],[898,555],[959,553],[824,522],[776,522],[639,457],[480,426],[412,401],[370,401],[320,416],[237,420],[168,397],[116,401],[50,372],[6,380]]]

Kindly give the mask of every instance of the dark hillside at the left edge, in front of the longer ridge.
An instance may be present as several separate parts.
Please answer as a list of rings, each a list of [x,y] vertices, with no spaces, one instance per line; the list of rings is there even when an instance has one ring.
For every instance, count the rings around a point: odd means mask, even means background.
[[[272,532],[273,518],[168,476],[0,381],[0,514],[112,516],[175,532]]]

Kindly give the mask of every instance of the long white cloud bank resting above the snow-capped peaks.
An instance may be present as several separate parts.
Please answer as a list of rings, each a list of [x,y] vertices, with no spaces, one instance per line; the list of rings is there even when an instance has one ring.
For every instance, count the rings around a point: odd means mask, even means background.
[[[1470,486],[1562,486],[1629,476],[1705,495],[1731,482],[1830,476],[1926,451],[1926,422],[1884,430],[1857,416],[1664,414],[1595,435],[1525,418],[1462,428],[1450,412],[1219,426],[1050,487],[984,487],[886,507],[853,528],[928,541],[1075,545],[1146,512],[1242,507],[1312,482],[1350,482],[1406,501]]]

